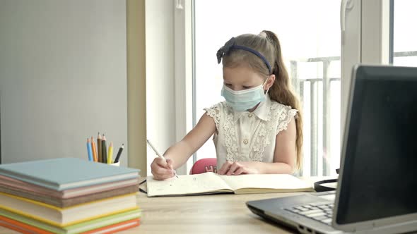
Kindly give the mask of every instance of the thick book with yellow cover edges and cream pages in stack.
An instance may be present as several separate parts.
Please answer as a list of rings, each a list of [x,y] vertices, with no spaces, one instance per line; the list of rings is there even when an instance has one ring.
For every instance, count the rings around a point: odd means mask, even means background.
[[[137,208],[136,194],[122,195],[64,209],[0,192],[0,208],[54,226],[69,226]]]

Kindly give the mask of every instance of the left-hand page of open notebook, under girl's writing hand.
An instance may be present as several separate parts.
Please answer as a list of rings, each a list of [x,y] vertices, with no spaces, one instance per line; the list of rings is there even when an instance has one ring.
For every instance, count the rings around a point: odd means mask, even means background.
[[[230,187],[215,173],[178,176],[169,180],[154,180],[153,176],[146,178],[148,197],[163,195],[189,195],[218,190],[230,190]],[[232,192],[232,190],[230,190]]]

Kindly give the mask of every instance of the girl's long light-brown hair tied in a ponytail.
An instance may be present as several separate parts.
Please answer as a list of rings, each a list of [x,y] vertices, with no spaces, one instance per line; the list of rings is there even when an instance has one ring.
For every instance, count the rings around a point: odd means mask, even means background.
[[[227,44],[228,43],[226,43],[225,47]],[[262,61],[259,56],[242,49],[227,51],[227,53],[222,56],[223,67],[233,68],[238,66],[249,66],[256,73],[264,77],[274,74],[275,82],[269,89],[269,97],[271,100],[298,110],[298,116],[295,118],[295,127],[297,130],[295,149],[297,151],[296,166],[297,169],[300,170],[303,161],[303,116],[301,113],[300,101],[292,90],[290,77],[286,70],[286,66],[283,63],[281,45],[278,37],[274,32],[264,30],[259,35],[244,34],[237,36],[233,39],[233,44],[249,47],[262,54],[271,66],[271,73],[269,72],[266,63]]]

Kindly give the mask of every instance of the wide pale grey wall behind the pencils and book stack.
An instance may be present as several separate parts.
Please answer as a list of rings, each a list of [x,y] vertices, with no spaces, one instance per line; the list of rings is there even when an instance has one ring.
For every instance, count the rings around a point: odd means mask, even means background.
[[[127,144],[126,57],[125,1],[1,0],[2,163]]]

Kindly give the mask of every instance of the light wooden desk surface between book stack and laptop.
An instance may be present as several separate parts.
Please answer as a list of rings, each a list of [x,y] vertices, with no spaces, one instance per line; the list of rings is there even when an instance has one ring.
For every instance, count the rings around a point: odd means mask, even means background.
[[[301,193],[189,197],[146,197],[139,193],[141,225],[120,233],[293,233],[252,214],[245,202],[297,194]],[[6,233],[17,232],[0,227],[0,234]]]

